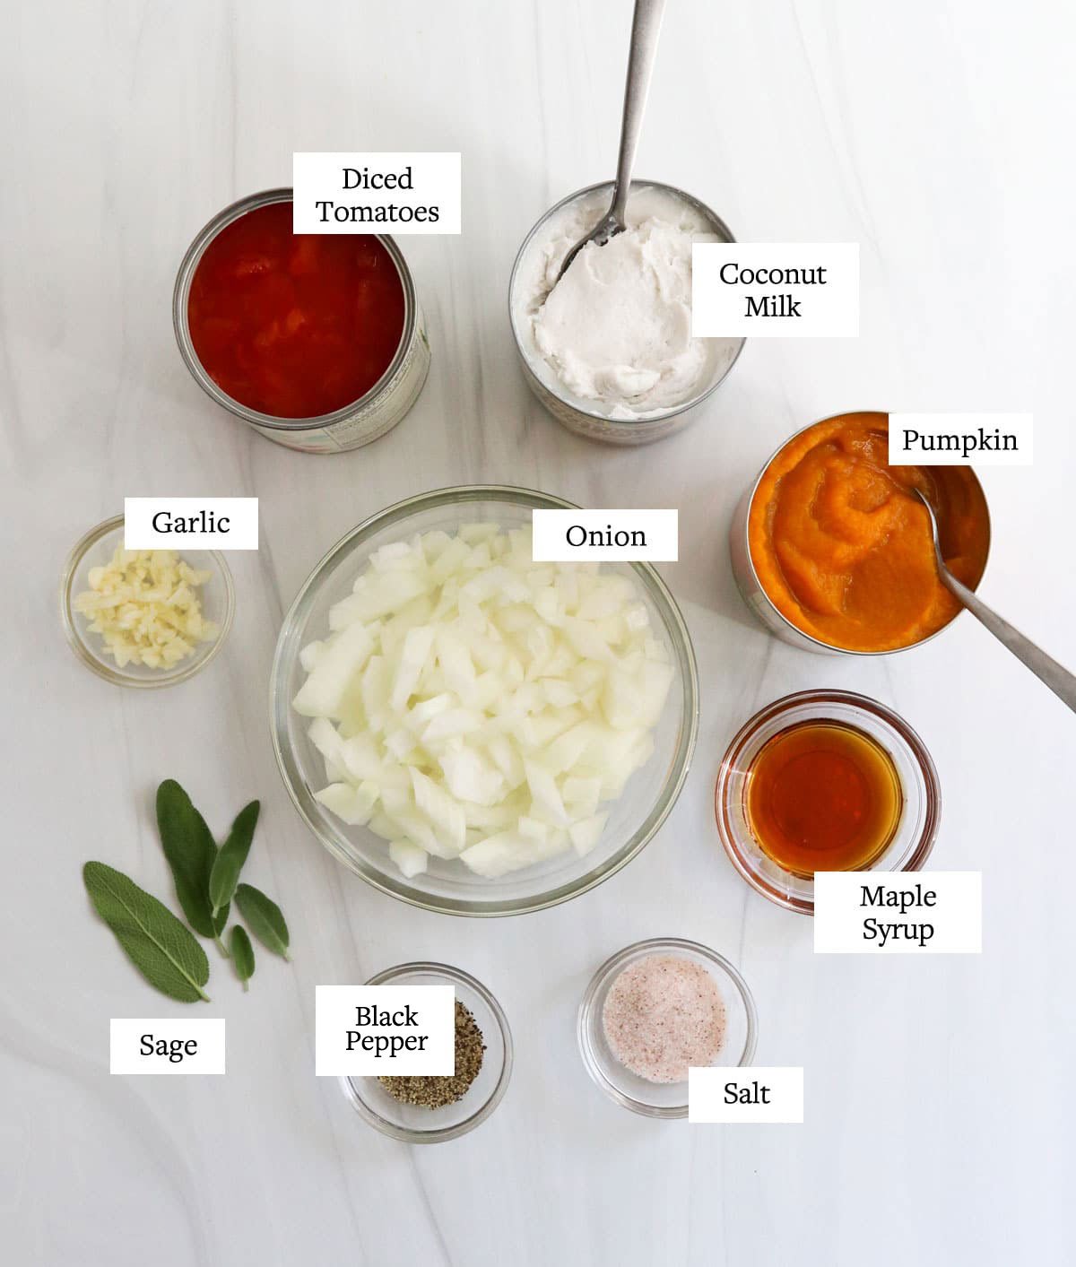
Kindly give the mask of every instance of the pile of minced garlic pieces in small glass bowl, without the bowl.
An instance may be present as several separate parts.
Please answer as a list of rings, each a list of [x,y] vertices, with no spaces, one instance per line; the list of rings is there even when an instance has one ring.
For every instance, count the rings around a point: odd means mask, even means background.
[[[212,575],[172,550],[120,546],[109,564],[90,569],[90,588],[77,595],[74,608],[90,617],[90,631],[101,635],[120,669],[127,664],[171,669],[221,632],[203,617],[198,598],[198,587]]]

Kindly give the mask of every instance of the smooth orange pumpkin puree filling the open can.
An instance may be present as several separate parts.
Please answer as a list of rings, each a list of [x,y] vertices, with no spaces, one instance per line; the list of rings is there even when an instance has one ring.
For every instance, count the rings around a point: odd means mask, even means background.
[[[959,603],[942,554],[972,589],[986,566],[990,517],[967,466],[890,466],[888,414],[826,418],[792,440],[759,480],[748,542],[762,588],[796,628],[845,651],[893,651],[935,634]]]

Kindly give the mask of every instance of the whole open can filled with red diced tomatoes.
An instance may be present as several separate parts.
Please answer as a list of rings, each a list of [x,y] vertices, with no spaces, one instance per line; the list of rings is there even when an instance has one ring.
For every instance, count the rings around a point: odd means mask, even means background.
[[[285,207],[281,204],[286,204]],[[387,234],[290,234],[291,190],[226,207],[188,248],[172,322],[199,386],[267,440],[369,445],[418,399],[430,343]]]

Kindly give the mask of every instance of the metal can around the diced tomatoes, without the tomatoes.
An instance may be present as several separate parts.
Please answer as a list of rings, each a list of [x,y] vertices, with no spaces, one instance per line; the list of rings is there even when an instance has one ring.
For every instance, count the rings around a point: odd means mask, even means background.
[[[393,303],[399,304],[402,299],[402,329],[394,350],[389,347],[385,353],[387,364],[380,376],[355,399],[304,417],[281,417],[266,412],[229,394],[217,381],[221,375],[213,376],[207,370],[196,350],[196,340],[191,337],[191,284],[210,245],[224,229],[251,212],[281,203],[286,203],[290,212],[290,189],[270,189],[251,194],[214,215],[191,242],[180,264],[172,293],[172,324],[180,356],[207,395],[274,443],[308,454],[335,454],[360,449],[392,431],[403,418],[418,399],[430,370],[430,343],[414,280],[399,247],[388,234],[375,233],[365,237],[380,245],[378,261],[394,270],[392,275],[399,280],[402,295],[394,295]],[[298,243],[299,239],[295,241]]]

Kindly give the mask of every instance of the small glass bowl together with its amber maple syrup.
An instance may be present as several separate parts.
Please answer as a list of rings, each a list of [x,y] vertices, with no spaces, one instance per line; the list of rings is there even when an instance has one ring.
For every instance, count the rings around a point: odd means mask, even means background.
[[[942,792],[923,740],[891,708],[850,691],[801,691],[743,726],[715,806],[748,884],[814,915],[815,872],[920,870]]]

